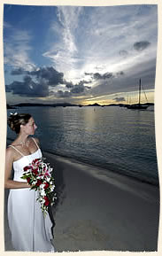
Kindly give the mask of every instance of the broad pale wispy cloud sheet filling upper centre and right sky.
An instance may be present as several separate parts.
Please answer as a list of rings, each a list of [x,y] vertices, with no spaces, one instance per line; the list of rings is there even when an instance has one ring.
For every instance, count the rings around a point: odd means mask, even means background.
[[[98,66],[104,74],[125,71],[142,58],[154,58],[157,8],[145,9],[141,5],[58,7],[58,22],[51,25],[58,43],[51,43],[43,56],[52,59],[67,80],[75,81],[84,79],[85,72],[96,73]]]

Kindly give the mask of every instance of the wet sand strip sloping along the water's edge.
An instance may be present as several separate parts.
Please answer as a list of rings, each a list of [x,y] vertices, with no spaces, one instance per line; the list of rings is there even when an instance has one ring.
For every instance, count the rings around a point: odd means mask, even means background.
[[[49,151],[43,151],[43,155],[47,156],[47,159],[50,159],[51,162],[54,158],[56,162],[62,162],[63,166],[67,165],[75,169],[77,168],[79,172],[83,172],[85,175],[89,175],[89,177],[95,178],[96,180],[104,182],[107,185],[110,184],[115,186],[116,188],[119,188],[120,190],[126,190],[129,193],[133,193],[136,196],[145,200],[159,202],[159,197],[157,197],[159,187],[150,184],[149,182],[141,182],[140,180],[134,179],[130,176],[121,175],[118,172],[113,173],[112,170],[90,165],[76,159],[55,155]]]

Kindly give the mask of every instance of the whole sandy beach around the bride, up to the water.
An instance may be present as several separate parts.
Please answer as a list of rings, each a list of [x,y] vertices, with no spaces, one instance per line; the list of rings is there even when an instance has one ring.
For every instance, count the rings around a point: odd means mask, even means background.
[[[43,152],[54,168],[58,252],[158,250],[157,186]],[[5,251],[13,251],[4,194]]]

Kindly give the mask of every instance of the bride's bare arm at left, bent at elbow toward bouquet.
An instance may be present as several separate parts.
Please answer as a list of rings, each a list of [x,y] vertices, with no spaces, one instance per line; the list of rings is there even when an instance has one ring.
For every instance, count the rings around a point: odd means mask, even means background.
[[[5,155],[5,173],[4,173],[4,188],[5,189],[24,189],[31,188],[31,186],[27,182],[16,182],[12,181],[12,164],[13,164],[13,153],[12,149],[6,149]]]

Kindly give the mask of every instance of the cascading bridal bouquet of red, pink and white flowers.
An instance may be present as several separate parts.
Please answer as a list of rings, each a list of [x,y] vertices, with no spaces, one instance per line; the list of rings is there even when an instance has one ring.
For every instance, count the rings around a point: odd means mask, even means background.
[[[51,176],[53,168],[49,163],[43,162],[42,159],[34,159],[31,164],[24,167],[22,179],[26,179],[31,185],[31,190],[38,190],[38,200],[41,204],[42,213],[48,212],[48,206],[54,204],[56,194],[54,194],[54,178]]]

